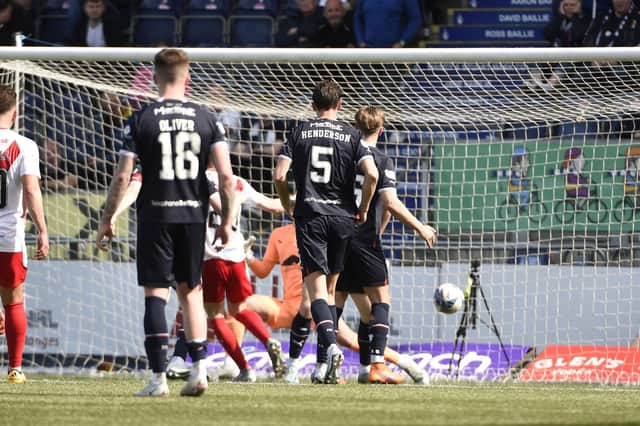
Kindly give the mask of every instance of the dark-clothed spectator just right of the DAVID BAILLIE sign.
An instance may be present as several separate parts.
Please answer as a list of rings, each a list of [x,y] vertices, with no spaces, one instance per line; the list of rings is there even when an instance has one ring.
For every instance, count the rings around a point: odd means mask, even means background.
[[[559,13],[544,29],[553,47],[581,47],[591,18],[583,13],[581,0],[562,0]]]

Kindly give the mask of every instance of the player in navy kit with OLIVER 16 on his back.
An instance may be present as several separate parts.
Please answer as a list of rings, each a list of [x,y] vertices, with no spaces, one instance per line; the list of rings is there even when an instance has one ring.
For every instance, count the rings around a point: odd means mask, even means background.
[[[154,59],[160,99],[135,112],[124,129],[124,145],[98,230],[102,249],[114,236],[113,215],[129,184],[136,157],[144,170],[138,198],[138,283],[145,293],[145,350],[153,375],[136,396],[167,396],[165,362],[169,333],[166,300],[176,288],[184,315],[189,353],[194,361],[181,395],[207,388],[207,326],[201,268],[209,187],[210,155],[219,175],[222,223],[216,237],[226,244],[233,217],[232,170],[224,127],[216,115],[185,99],[189,59],[180,49],[163,49]]]

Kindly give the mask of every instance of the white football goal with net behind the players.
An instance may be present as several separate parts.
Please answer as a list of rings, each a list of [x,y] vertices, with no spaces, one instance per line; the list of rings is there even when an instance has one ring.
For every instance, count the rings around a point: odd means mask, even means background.
[[[454,360],[464,377],[496,380],[533,348],[542,358],[523,377],[640,381],[640,356],[625,361],[635,373],[606,374],[640,330],[640,48],[185,50],[189,98],[220,113],[235,172],[267,194],[287,129],[313,116],[317,81],[342,85],[344,121],[364,105],[384,110],[379,147],[395,162],[398,196],[438,230],[434,249],[396,220],[382,239],[390,345],[446,375],[459,314],[436,313],[433,291],[465,288],[479,260],[510,362],[478,321]],[[93,240],[123,121],[155,96],[157,51],[0,48],[0,82],[21,91],[18,130],[41,148],[52,246],[29,263],[27,365],[146,366],[134,215],[121,218],[110,253]],[[257,251],[281,224],[244,214]],[[270,295],[273,280],[256,286]],[[357,324],[351,305],[345,317]]]

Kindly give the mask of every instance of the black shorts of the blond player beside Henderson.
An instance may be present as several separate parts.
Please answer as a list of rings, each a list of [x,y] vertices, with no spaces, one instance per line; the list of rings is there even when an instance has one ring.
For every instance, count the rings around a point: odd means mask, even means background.
[[[388,277],[380,241],[364,243],[353,239],[336,291],[364,293],[365,287],[387,285]]]

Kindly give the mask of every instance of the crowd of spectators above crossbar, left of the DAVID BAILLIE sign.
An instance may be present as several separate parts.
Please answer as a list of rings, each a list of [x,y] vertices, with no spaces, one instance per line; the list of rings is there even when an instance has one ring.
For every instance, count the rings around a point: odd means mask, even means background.
[[[66,45],[123,46],[136,14],[179,17],[195,3],[202,15],[226,16],[224,7],[271,16],[277,47],[415,46],[431,13],[426,0],[0,0],[0,43],[13,45],[15,32],[37,36],[38,16],[53,11],[67,15]]]

